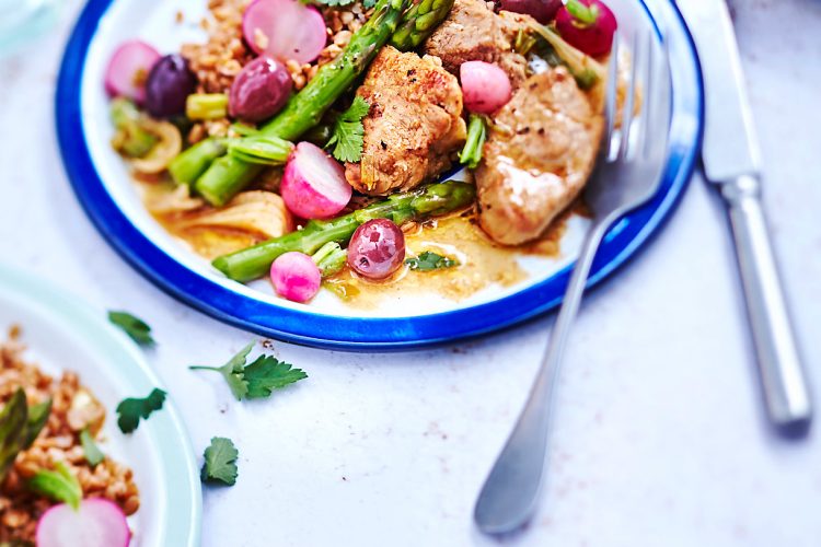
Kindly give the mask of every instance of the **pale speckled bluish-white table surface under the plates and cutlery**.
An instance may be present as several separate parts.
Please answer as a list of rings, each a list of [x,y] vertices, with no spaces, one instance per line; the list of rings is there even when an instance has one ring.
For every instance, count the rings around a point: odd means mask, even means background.
[[[689,0],[681,0],[689,1]],[[821,393],[821,3],[735,0],[766,162],[766,208]],[[233,488],[205,490],[205,546],[489,545],[475,496],[523,403],[553,317],[391,356],[275,344],[310,379],[238,405],[210,362],[251,335],[169,298],[83,214],[60,163],[59,28],[0,60],[0,256],[154,327],[149,360],[197,453],[240,449]],[[696,176],[663,232],[583,305],[560,379],[544,502],[520,545],[821,545],[821,434],[767,430],[724,211]]]

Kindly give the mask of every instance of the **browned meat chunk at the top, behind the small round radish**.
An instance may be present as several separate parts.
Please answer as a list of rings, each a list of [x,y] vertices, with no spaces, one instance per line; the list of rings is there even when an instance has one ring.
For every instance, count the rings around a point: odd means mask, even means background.
[[[425,53],[442,59],[453,74],[464,61],[495,62],[518,88],[527,78],[528,61],[513,51],[513,44],[519,30],[531,22],[535,23],[529,15],[496,14],[482,0],[456,0],[425,43]]]

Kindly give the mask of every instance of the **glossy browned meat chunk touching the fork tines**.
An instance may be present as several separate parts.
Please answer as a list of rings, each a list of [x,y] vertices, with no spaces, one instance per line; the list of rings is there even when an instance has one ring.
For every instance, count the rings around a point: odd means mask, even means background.
[[[476,170],[485,232],[506,245],[539,237],[585,186],[603,125],[564,68],[528,79],[496,115]]]

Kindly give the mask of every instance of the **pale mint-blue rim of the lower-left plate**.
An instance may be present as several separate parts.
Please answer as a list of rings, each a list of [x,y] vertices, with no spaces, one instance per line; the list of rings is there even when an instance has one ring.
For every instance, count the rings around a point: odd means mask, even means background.
[[[123,379],[135,388],[164,388],[134,341],[106,322],[102,313],[61,288],[0,264],[0,300],[8,292],[13,293],[13,300],[24,304],[27,310],[47,316],[55,328],[88,340],[94,351],[115,369],[108,374]],[[34,327],[23,325],[23,328],[28,330]],[[163,540],[167,542],[165,545],[198,547],[203,489],[190,439],[174,401],[166,399],[157,417],[141,424],[139,431],[149,435],[163,462],[163,468],[157,473],[162,477],[166,492],[164,501],[167,514],[161,531]]]

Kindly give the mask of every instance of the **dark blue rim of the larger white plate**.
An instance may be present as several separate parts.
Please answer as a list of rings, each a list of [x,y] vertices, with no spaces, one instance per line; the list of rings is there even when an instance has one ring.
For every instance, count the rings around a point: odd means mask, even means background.
[[[560,302],[573,265],[511,295],[414,317],[340,317],[244,296],[186,268],[141,233],[108,195],[91,159],[81,117],[81,82],[97,24],[115,0],[90,0],[66,46],[57,81],[57,136],[74,193],[103,236],[161,289],[231,325],[294,344],[354,351],[404,350],[472,338],[544,314]],[[701,148],[704,88],[695,46],[671,0],[640,0],[670,45],[673,80],[670,158],[657,195],[618,221],[593,261],[588,287],[623,266],[659,231],[686,187]]]

